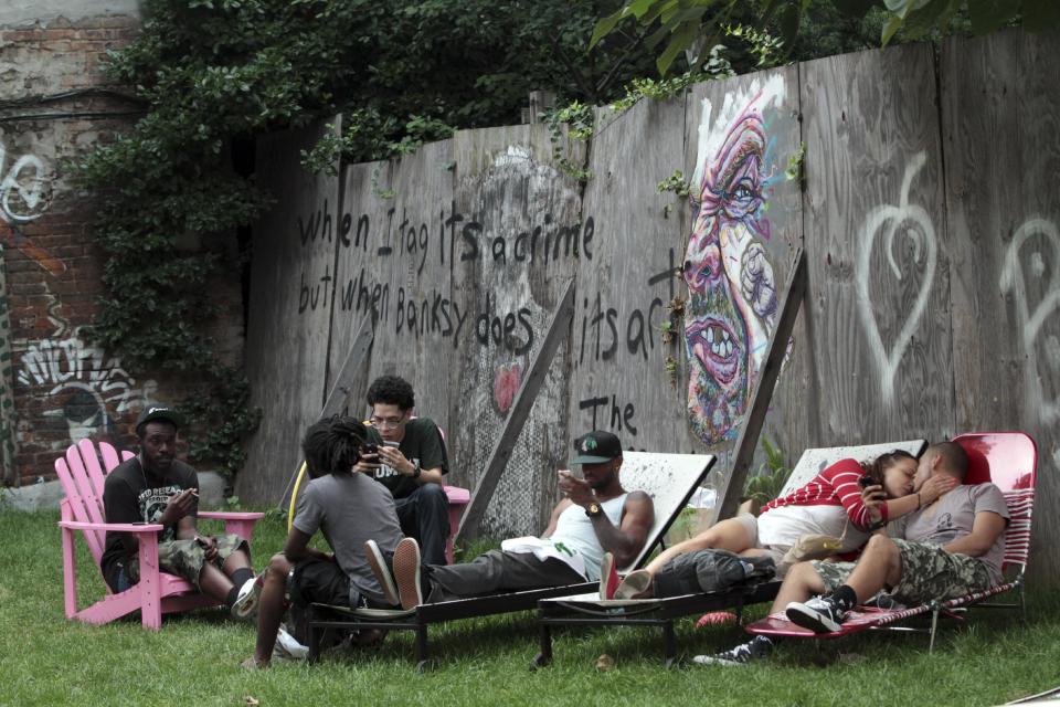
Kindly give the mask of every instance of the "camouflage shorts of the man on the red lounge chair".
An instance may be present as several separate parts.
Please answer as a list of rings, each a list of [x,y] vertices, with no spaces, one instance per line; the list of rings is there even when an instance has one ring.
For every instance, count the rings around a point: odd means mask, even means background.
[[[990,587],[986,566],[974,557],[946,552],[935,545],[909,540],[895,539],[894,545],[901,553],[902,578],[890,594],[902,603],[919,604],[932,599],[956,599]],[[854,562],[820,560],[815,560],[813,566],[828,593],[846,582],[855,568]]]

